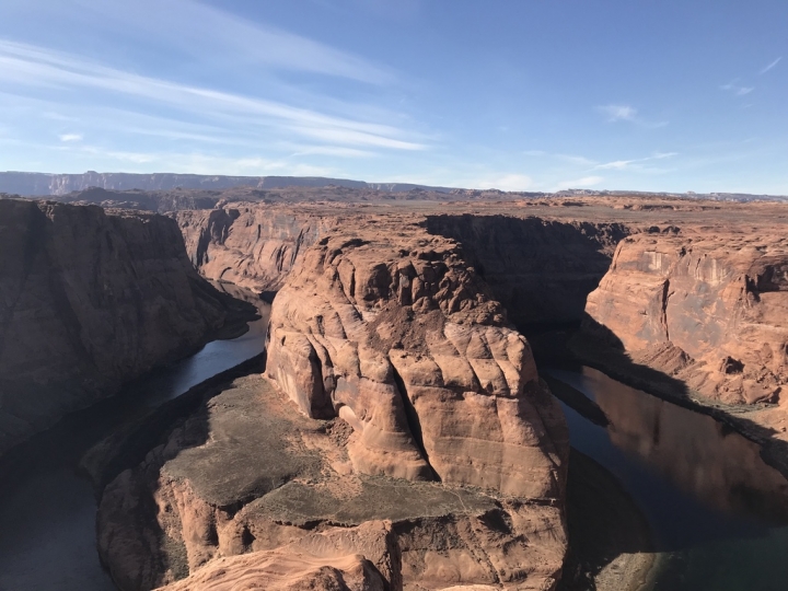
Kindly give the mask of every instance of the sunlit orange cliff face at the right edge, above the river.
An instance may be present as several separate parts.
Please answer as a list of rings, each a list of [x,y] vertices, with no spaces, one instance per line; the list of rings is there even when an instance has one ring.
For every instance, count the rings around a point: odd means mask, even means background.
[[[788,241],[781,235],[627,239],[586,311],[588,332],[705,396],[778,402],[788,383]]]

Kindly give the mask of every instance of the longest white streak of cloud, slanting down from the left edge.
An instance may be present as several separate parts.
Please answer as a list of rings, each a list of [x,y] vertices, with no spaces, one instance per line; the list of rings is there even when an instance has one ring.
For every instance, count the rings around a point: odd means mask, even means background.
[[[326,115],[253,96],[182,84],[111,68],[73,55],[0,39],[0,81],[16,86],[90,90],[143,100],[239,126],[268,127],[329,143],[422,150],[407,131],[386,124]]]

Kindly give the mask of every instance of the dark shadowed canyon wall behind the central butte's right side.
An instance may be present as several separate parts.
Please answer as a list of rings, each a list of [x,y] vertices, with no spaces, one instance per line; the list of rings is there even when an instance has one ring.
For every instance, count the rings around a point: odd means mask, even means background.
[[[427,231],[462,243],[518,326],[579,322],[607,273],[623,223],[508,216],[428,216]]]

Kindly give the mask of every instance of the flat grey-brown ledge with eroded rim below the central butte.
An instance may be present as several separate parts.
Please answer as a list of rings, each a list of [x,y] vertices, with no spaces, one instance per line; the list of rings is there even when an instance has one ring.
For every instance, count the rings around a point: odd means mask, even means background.
[[[566,549],[557,505],[359,474],[351,430],[302,415],[260,375],[235,380],[104,491],[99,545],[114,580],[178,590],[553,588]]]

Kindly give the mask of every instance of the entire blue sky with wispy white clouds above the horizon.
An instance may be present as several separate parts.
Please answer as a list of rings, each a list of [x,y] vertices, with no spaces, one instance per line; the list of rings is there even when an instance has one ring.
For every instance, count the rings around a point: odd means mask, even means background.
[[[788,194],[788,2],[2,0],[0,170]]]

